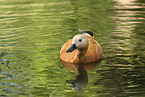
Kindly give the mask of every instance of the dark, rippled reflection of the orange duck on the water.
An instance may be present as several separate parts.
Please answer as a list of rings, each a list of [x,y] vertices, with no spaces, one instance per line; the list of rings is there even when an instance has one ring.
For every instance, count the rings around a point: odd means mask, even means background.
[[[88,84],[88,73],[87,70],[93,70],[96,66],[101,63],[101,60],[92,62],[92,63],[79,63],[73,64],[60,60],[61,64],[64,67],[67,67],[69,70],[76,71],[75,80],[67,80],[71,83],[72,90],[82,90]]]

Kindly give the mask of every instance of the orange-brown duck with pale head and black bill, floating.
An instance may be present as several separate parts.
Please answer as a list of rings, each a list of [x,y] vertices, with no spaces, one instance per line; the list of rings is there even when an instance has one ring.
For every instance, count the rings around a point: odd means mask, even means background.
[[[99,61],[103,57],[103,50],[99,43],[94,40],[91,31],[78,29],[81,34],[77,34],[73,39],[68,40],[60,50],[60,60],[73,64],[90,63]]]

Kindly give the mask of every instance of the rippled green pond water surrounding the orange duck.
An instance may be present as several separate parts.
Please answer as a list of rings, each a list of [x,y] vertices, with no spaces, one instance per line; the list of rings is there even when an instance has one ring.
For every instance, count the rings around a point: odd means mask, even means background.
[[[145,2],[120,1],[0,0],[0,96],[144,97]],[[78,28],[94,32],[104,52],[80,76],[59,60]]]

